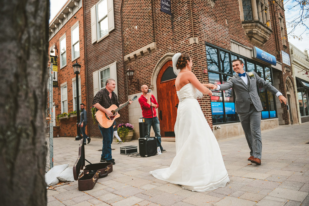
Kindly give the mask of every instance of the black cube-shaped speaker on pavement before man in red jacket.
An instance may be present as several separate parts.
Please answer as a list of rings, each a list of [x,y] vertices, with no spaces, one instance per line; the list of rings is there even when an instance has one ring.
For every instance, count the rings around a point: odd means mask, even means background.
[[[138,138],[138,145],[142,157],[150,157],[157,153],[157,137]]]

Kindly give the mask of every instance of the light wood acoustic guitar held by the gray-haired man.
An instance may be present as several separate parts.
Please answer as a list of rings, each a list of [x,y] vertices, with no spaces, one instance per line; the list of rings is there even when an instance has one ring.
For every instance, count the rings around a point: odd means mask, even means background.
[[[137,95],[131,97],[129,101],[135,101],[137,99]],[[112,116],[108,117],[105,112],[98,110],[95,112],[95,120],[99,123],[100,127],[104,128],[110,128],[114,121],[120,117],[120,114],[118,113],[119,110],[121,110],[123,107],[127,106],[129,104],[129,101],[121,105],[120,107],[117,107],[115,104],[112,104],[110,107],[107,108],[108,111],[112,112]]]

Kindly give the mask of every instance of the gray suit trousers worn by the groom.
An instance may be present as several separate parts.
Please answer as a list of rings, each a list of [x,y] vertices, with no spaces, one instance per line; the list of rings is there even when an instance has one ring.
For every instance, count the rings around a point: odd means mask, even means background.
[[[239,120],[248,146],[250,148],[250,156],[261,159],[262,157],[262,138],[261,138],[261,112],[256,111],[253,104],[250,105],[249,112],[239,113]]]

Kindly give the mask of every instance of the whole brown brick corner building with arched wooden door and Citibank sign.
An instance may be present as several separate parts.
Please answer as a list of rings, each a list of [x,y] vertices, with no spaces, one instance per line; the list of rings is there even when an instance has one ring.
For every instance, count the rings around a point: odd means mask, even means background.
[[[161,2],[173,15],[160,11]],[[291,69],[284,60],[290,58],[290,51],[281,1],[87,0],[84,11],[88,105],[109,77],[116,79],[121,103],[133,95],[139,97],[139,87],[147,84],[159,103],[163,140],[174,140],[178,103],[171,69],[174,53],[193,58],[193,72],[201,82],[224,83],[233,75],[231,60],[240,58],[246,71],[256,71],[285,96],[287,90],[295,94]],[[127,70],[135,72],[132,81]],[[262,129],[290,124],[286,106],[263,88],[259,91],[264,107]],[[291,99],[296,104],[295,96]],[[214,129],[218,139],[243,134],[232,90],[214,92],[212,98],[199,102],[210,126],[221,127]],[[139,137],[142,111],[138,102],[120,114],[117,123],[133,124],[135,138]],[[100,137],[97,124],[91,121],[90,135]]]

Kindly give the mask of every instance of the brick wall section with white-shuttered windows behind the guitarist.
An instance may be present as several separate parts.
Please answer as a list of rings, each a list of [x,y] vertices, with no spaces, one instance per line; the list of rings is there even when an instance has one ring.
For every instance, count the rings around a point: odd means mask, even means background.
[[[117,79],[118,99],[120,103],[127,101],[127,77],[125,73],[125,64],[123,61],[123,40],[122,40],[122,23],[121,23],[121,2],[114,0],[114,19],[115,29],[109,32],[109,35],[103,40],[91,43],[91,7],[98,3],[98,0],[83,1],[85,9],[85,39],[86,39],[86,65],[87,65],[87,93],[89,107],[92,106],[93,101],[93,76],[92,73],[105,66],[117,61]],[[102,137],[98,124],[93,124],[91,117],[91,110],[88,107],[89,136]],[[119,123],[127,123],[129,121],[128,107],[119,111],[121,115],[117,120]]]

